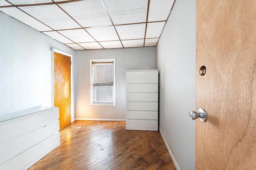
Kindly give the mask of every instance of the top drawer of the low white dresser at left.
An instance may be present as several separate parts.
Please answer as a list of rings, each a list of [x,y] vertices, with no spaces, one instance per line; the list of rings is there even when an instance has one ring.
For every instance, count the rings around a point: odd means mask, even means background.
[[[16,137],[34,131],[44,125],[59,119],[59,109],[53,108],[38,115],[32,115],[24,119],[18,119],[0,125],[0,145]],[[12,132],[12,133],[10,133]]]

